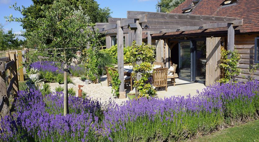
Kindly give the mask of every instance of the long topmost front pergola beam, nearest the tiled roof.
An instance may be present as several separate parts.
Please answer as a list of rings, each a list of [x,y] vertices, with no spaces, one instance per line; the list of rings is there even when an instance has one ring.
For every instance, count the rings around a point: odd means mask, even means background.
[[[138,18],[139,15],[143,15],[143,14],[146,14],[148,19],[159,19],[159,20],[182,20],[182,21],[202,21],[202,22],[222,22],[222,23],[235,23],[236,20],[241,20],[241,18],[234,18],[234,17],[162,13],[162,12],[144,12],[144,11],[127,11],[127,18]]]

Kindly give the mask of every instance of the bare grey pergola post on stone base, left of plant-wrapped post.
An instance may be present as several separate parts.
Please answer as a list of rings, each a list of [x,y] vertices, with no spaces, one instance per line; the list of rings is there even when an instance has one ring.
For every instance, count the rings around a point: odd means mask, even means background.
[[[120,21],[117,21],[117,51],[118,51],[118,72],[120,78],[120,96],[119,98],[126,98],[124,90],[124,59],[123,59],[123,27],[120,27]]]

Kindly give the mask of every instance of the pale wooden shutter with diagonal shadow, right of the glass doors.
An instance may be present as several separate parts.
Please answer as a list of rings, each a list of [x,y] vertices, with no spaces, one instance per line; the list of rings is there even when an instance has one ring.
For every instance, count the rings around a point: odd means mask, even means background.
[[[220,79],[220,37],[207,38],[206,42],[206,86],[214,84]]]

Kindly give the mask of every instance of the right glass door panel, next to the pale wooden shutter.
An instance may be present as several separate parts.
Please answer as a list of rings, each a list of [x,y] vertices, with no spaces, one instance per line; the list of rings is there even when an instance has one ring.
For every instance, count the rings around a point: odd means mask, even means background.
[[[205,83],[206,79],[206,41],[196,41],[195,80]]]

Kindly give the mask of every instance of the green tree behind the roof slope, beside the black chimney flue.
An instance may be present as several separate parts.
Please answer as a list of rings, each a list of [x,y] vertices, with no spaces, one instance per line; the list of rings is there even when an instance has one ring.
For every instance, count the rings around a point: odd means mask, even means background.
[[[161,5],[161,12],[171,12],[185,0],[158,0],[157,5]],[[157,7],[158,12],[158,7]]]

